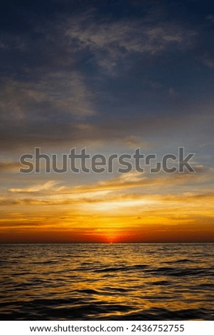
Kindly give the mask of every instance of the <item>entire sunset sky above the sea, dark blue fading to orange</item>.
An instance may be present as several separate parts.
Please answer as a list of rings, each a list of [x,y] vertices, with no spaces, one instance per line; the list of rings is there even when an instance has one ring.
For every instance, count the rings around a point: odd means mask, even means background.
[[[0,243],[214,242],[212,1],[9,0],[0,16]],[[35,148],[60,167],[73,148],[179,147],[195,172],[20,172]]]

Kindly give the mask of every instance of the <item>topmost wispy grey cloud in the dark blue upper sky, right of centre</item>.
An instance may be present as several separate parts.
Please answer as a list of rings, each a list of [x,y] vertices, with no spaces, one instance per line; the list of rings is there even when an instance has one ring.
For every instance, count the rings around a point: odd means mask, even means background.
[[[111,70],[132,53],[155,55],[169,47],[186,48],[196,31],[173,22],[149,21],[145,16],[134,21],[96,19],[96,14],[83,14],[69,20],[66,36],[70,45],[89,49],[100,66]]]

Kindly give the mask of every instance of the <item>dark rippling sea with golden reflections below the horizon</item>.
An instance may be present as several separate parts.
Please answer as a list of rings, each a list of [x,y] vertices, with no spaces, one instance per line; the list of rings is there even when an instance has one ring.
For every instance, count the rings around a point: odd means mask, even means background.
[[[1,320],[214,320],[214,244],[0,245]]]

